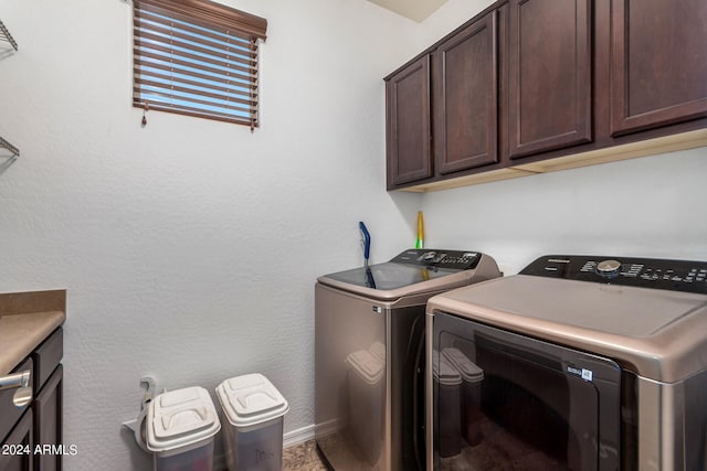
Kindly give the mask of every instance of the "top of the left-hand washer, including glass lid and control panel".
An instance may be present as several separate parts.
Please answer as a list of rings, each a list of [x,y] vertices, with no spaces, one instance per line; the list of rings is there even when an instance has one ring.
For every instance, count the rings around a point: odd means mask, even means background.
[[[317,281],[372,299],[393,300],[465,286],[472,278],[498,276],[496,263],[477,251],[412,248],[390,261],[325,275]]]

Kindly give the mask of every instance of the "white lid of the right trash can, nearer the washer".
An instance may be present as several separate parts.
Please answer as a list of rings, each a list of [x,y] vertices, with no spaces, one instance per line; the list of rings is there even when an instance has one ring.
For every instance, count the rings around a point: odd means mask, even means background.
[[[234,427],[275,419],[289,409],[287,400],[262,374],[232,377],[217,387],[223,414]]]

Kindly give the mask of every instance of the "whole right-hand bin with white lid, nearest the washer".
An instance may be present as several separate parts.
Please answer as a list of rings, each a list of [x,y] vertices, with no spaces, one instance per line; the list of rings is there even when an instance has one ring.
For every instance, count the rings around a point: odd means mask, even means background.
[[[223,447],[231,471],[279,471],[283,464],[283,420],[287,400],[262,374],[226,379],[217,387],[228,424]]]

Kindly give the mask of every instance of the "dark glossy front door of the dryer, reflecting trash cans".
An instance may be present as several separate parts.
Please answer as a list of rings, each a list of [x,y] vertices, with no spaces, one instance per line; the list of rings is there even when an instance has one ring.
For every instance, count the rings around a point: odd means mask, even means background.
[[[616,363],[451,314],[433,325],[434,469],[619,469]]]

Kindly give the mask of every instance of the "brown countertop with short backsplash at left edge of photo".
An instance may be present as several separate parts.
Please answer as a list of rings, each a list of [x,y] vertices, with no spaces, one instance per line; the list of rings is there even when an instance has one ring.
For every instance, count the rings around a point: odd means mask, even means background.
[[[0,376],[66,319],[66,290],[0,293]]]

